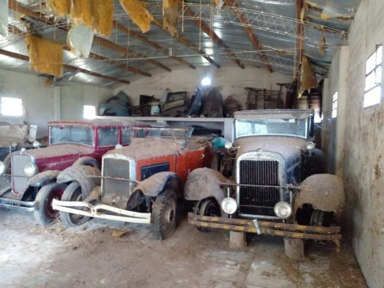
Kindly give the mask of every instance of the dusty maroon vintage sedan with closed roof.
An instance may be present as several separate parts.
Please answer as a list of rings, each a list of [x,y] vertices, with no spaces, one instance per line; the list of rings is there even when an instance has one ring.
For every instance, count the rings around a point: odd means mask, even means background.
[[[2,180],[10,178],[1,181],[0,207],[34,211],[39,224],[50,224],[59,216],[52,199],[60,199],[68,184],[57,183],[59,172],[74,162],[99,167],[108,150],[130,143],[132,127],[147,126],[110,119],[49,122],[48,147],[14,152],[0,161]]]

